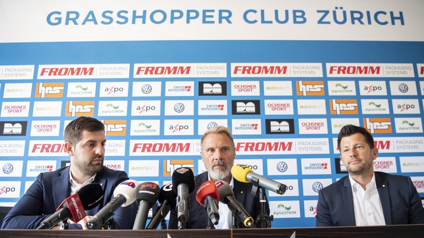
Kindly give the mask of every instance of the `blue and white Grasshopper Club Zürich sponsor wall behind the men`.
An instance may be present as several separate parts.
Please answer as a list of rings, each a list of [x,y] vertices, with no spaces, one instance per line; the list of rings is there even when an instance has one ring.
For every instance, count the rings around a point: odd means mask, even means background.
[[[424,196],[420,0],[0,0],[0,205],[69,163],[78,116],[106,126],[105,165],[162,186],[204,172],[200,138],[229,127],[236,163],[288,186],[274,227],[315,226],[346,175],[340,127],[366,127],[376,171]]]

